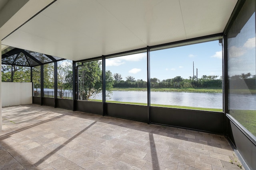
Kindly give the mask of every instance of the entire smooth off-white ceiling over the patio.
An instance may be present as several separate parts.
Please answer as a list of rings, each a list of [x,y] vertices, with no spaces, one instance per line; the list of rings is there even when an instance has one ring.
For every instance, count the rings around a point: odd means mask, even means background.
[[[237,0],[57,0],[3,45],[74,61],[222,33]]]

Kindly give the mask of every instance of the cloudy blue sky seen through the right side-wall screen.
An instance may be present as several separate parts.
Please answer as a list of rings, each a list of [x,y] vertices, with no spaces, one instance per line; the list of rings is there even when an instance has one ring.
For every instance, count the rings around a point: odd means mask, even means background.
[[[255,12],[239,32],[232,28],[230,35],[237,35],[228,37],[228,64],[231,65],[229,76],[248,72],[256,74],[255,29],[252,28],[255,28]]]

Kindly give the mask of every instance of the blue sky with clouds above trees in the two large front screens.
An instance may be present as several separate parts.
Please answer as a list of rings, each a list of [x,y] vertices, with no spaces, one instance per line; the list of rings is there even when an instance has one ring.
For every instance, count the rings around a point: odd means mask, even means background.
[[[181,76],[186,79],[202,75],[222,76],[222,46],[218,41],[174,47],[150,52],[150,77],[160,80]],[[146,80],[146,53],[106,59],[106,70],[119,73],[123,80],[133,76],[135,80]]]

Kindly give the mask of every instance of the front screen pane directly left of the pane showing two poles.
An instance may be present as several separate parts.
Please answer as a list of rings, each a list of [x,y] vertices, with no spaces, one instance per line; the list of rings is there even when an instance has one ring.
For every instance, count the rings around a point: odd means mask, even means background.
[[[106,83],[109,86],[107,102],[147,105],[145,52],[106,59],[106,78],[108,77],[112,79]]]

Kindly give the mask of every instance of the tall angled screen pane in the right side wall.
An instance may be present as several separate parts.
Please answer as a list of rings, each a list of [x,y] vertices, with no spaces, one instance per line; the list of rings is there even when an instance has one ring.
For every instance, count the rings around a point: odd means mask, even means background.
[[[256,136],[255,1],[245,2],[228,32],[229,113]]]

